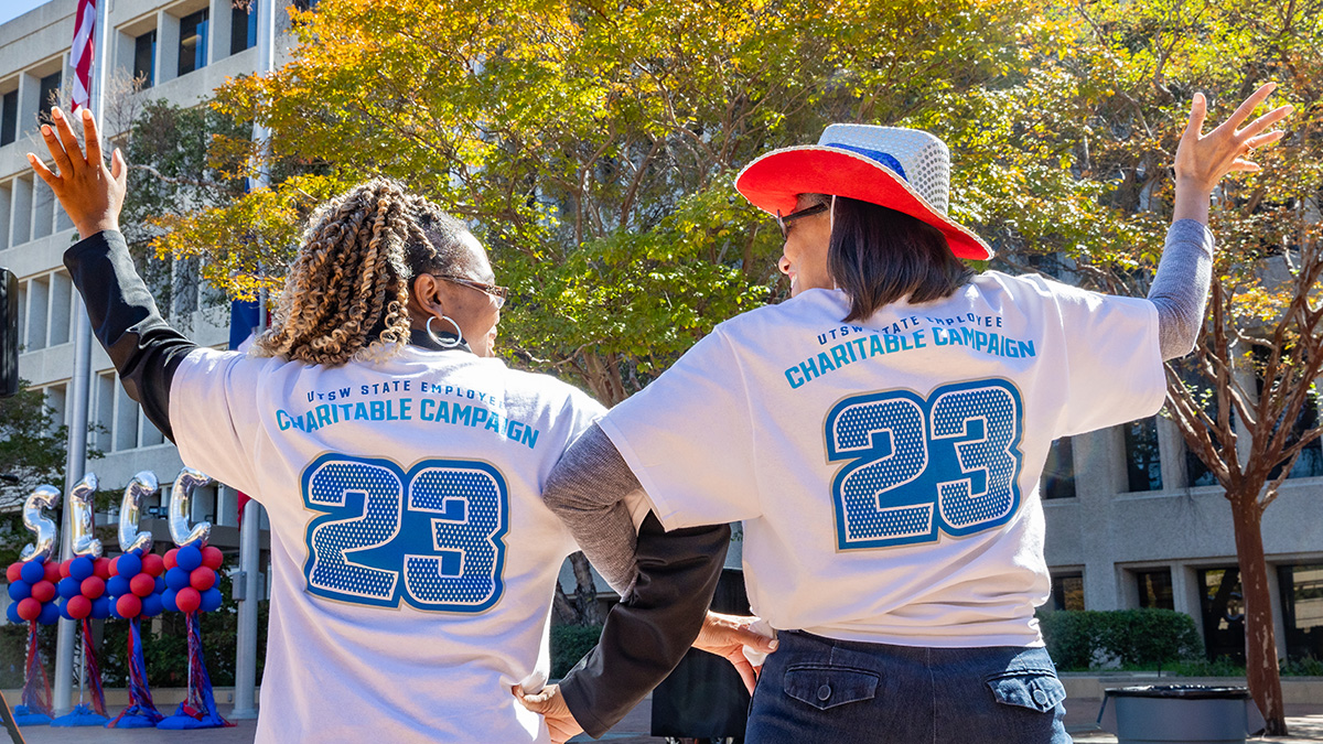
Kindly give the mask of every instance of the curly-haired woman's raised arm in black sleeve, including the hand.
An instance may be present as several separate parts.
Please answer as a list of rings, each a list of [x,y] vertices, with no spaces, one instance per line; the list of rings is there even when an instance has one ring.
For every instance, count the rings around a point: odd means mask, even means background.
[[[128,245],[119,233],[124,204],[124,158],[115,150],[111,167],[101,156],[101,138],[91,113],[82,114],[87,152],[78,146],[69,120],[52,110],[54,126],[41,135],[60,173],[28,154],[33,171],[56,193],[78,228],[82,241],[65,252],[65,266],[87,306],[93,334],[106,347],[128,396],[171,441],[169,383],[175,368],[197,346],[161,318],[147,285],[134,269]]]

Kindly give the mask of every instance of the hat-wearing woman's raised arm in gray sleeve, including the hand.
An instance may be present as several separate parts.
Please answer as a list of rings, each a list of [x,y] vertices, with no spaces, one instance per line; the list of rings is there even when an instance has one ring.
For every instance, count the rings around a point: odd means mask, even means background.
[[[1204,94],[1196,93],[1191,103],[1189,120],[1176,148],[1172,225],[1148,291],[1148,299],[1158,307],[1158,340],[1163,359],[1189,353],[1204,322],[1213,266],[1213,236],[1208,232],[1213,188],[1226,173],[1258,171],[1258,164],[1248,158],[1285,134],[1266,130],[1290,115],[1291,106],[1275,109],[1237,128],[1275,87],[1275,83],[1259,87],[1226,122],[1207,135],[1203,134],[1208,109]]]

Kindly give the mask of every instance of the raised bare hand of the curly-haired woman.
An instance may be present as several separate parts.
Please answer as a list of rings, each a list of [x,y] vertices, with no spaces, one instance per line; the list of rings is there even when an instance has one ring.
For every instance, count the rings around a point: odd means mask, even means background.
[[[56,192],[56,199],[78,228],[79,236],[86,238],[101,230],[118,230],[128,175],[124,155],[115,148],[110,168],[106,167],[101,155],[101,134],[87,109],[82,110],[86,154],[78,146],[78,138],[64,111],[52,109],[50,119],[53,124],[41,124],[41,136],[60,172],[50,172],[41,159],[29,152],[28,163],[32,163],[32,169]]]

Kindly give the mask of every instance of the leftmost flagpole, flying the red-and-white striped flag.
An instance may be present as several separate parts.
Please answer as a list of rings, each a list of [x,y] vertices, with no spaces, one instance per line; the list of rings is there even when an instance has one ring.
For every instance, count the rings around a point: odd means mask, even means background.
[[[97,123],[106,126],[106,26],[107,5],[110,0],[97,0],[97,25],[93,29],[93,58],[91,75],[89,82],[91,93],[91,113]],[[77,12],[77,11],[75,11]],[[78,24],[78,19],[74,19]],[[65,463],[65,492],[69,494],[74,483],[82,481],[83,470],[87,465],[87,408],[91,389],[91,320],[83,306],[82,297],[74,294],[74,373],[70,380],[71,416],[69,422],[69,459]],[[64,523],[61,526],[60,560],[73,557],[73,511],[66,503]],[[74,635],[77,622],[60,618],[60,629],[56,639],[56,690],[52,707],[57,716],[73,711],[73,678],[74,678]],[[86,641],[85,641],[86,642]]]

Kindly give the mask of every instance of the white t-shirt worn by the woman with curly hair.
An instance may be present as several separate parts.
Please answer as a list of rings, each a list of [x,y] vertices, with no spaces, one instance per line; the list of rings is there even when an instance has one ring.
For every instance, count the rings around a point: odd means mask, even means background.
[[[548,741],[509,694],[549,671],[576,549],[541,491],[602,412],[464,351],[343,367],[189,353],[171,383],[180,454],[271,524],[257,740]]]

